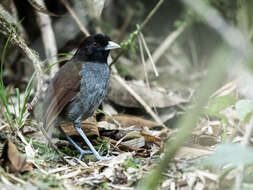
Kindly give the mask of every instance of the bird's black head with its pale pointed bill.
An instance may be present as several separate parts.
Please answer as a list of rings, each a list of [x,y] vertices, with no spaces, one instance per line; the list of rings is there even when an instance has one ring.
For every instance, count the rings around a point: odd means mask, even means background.
[[[76,51],[74,58],[82,61],[107,63],[110,49],[115,48],[120,48],[120,46],[112,42],[108,36],[95,34],[84,39]]]

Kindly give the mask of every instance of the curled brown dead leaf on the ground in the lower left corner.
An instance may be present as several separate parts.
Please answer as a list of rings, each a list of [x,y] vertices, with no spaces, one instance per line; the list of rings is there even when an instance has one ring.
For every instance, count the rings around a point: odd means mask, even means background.
[[[20,154],[16,145],[10,140],[4,144],[1,165],[7,172],[12,173],[22,173],[32,169],[32,166],[26,162],[26,158]]]

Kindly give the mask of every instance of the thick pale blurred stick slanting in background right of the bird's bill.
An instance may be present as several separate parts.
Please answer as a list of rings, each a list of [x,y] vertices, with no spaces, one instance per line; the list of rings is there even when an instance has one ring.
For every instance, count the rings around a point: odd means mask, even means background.
[[[154,63],[158,61],[158,59],[164,54],[164,52],[171,47],[173,42],[185,31],[188,24],[182,24],[176,31],[170,33],[163,43],[154,51],[152,58]],[[152,60],[149,59],[147,64],[152,63]]]

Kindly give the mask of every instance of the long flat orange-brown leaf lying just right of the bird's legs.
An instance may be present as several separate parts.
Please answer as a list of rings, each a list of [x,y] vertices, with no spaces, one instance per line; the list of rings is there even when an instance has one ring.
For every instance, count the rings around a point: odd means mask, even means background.
[[[155,126],[160,126],[159,123],[143,119],[142,117],[132,116],[132,115],[125,115],[125,114],[118,114],[112,115],[113,119],[120,123],[122,128],[127,128],[131,126],[135,126],[137,128],[143,128],[144,126],[151,128]],[[112,118],[106,116],[102,120],[107,121],[109,123],[114,123]]]

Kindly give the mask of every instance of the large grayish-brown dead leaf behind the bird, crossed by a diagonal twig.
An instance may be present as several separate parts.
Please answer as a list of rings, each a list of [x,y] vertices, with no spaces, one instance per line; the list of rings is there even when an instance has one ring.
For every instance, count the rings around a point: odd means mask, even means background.
[[[126,83],[139,95],[150,107],[164,108],[187,102],[186,99],[175,93],[168,93],[161,87],[148,88],[143,81],[126,81]],[[137,100],[129,94],[115,79],[111,79],[108,92],[109,100],[115,104],[129,107],[142,107]]]

